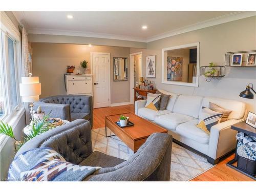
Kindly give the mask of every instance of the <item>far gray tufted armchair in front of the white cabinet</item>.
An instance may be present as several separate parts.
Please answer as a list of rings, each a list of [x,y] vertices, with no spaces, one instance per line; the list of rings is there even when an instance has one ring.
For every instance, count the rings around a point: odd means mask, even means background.
[[[50,117],[57,117],[68,121],[86,119],[93,126],[93,99],[89,95],[58,95],[42,98],[34,103],[34,109],[41,106],[42,111]]]

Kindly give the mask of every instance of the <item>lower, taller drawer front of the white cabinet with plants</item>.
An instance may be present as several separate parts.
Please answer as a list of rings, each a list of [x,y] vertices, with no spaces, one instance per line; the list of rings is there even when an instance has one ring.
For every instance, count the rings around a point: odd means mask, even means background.
[[[75,80],[68,81],[68,93],[79,94],[79,93],[91,93],[91,80]]]

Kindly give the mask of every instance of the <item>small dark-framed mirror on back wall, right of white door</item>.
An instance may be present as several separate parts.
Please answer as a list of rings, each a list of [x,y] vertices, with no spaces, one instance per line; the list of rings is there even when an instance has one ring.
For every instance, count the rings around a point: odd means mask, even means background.
[[[114,81],[128,80],[128,58],[114,57]]]

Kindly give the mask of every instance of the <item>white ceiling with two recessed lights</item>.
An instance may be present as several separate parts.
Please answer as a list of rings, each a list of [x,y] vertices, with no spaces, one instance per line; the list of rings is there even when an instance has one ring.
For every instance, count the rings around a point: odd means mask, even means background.
[[[161,35],[241,12],[231,11],[14,11],[29,33],[150,41]],[[73,15],[68,19],[67,15]],[[141,27],[147,26],[146,30]],[[202,27],[201,27],[202,28]]]

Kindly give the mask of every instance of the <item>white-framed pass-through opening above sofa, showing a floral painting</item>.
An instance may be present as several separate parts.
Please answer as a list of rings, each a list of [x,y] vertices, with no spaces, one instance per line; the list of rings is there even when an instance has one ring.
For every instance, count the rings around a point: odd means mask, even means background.
[[[162,83],[198,87],[199,42],[162,49]]]

